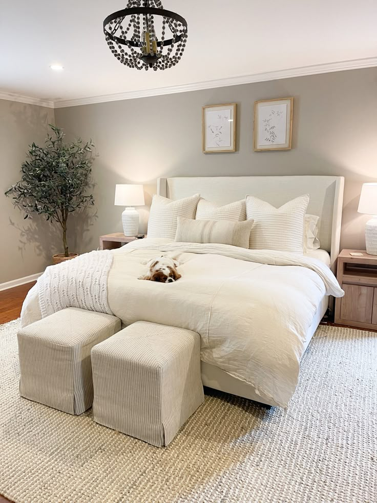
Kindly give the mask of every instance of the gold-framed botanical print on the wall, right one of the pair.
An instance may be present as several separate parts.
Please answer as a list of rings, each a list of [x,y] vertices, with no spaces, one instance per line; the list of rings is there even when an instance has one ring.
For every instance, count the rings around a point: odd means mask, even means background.
[[[254,150],[289,150],[293,98],[254,102]]]

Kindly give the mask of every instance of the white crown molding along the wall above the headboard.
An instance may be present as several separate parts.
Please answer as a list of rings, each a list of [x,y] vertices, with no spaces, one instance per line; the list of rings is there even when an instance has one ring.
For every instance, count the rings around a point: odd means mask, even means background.
[[[159,96],[162,94],[200,91],[203,89],[213,89],[216,87],[239,86],[242,84],[252,84],[254,82],[275,81],[281,78],[302,77],[305,75],[340,72],[344,70],[356,70],[358,68],[369,68],[375,66],[377,66],[377,57],[350,59],[348,61],[289,68],[287,70],[278,70],[274,72],[255,73],[252,75],[238,75],[235,77],[220,78],[213,81],[183,84],[181,86],[160,87],[156,89],[145,89],[142,91],[128,91],[123,93],[105,94],[102,96],[93,96],[88,98],[64,99],[55,101],[54,108],[77,107],[79,105],[114,102],[123,99],[145,98],[149,96]]]

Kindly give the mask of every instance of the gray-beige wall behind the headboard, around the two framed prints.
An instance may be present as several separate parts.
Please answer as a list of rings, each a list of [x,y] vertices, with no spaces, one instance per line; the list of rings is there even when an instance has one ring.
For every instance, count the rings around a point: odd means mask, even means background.
[[[368,217],[357,207],[362,183],[377,180],[376,84],[377,68],[368,68],[56,109],[57,125],[91,137],[98,152],[97,215],[78,251],[121,230],[115,184],[143,183],[152,194],[158,176],[190,175],[343,175],[342,246],[363,248]],[[286,96],[295,98],[292,149],[254,152],[254,100]],[[237,152],[203,154],[201,107],[232,102],[238,107]],[[146,211],[140,211],[145,230]]]

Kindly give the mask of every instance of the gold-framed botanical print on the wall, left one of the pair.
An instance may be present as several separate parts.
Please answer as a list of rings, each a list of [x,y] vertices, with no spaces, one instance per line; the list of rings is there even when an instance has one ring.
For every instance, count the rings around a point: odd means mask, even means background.
[[[236,151],[236,103],[202,107],[202,149],[205,153]]]

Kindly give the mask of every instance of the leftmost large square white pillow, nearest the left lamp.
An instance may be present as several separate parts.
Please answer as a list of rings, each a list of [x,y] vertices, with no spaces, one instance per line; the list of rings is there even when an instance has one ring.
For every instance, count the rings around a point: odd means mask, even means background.
[[[194,218],[200,194],[173,201],[154,195],[148,220],[148,237],[175,238],[177,218]]]

